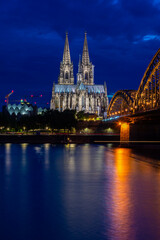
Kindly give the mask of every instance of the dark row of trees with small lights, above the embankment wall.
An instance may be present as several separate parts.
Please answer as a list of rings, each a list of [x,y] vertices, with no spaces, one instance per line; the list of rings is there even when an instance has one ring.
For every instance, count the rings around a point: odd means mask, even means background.
[[[106,124],[96,114],[47,110],[42,114],[12,115],[3,108],[0,113],[0,134],[118,134],[119,126]]]

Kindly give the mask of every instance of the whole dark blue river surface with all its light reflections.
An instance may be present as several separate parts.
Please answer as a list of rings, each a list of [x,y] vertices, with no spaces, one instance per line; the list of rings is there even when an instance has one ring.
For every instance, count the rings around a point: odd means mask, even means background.
[[[0,239],[159,240],[159,152],[0,145]]]

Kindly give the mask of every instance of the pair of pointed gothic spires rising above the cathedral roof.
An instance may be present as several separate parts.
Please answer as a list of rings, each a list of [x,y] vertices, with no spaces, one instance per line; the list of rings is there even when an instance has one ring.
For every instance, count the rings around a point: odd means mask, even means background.
[[[85,85],[94,84],[94,66],[89,59],[87,33],[85,33],[82,60],[79,60],[77,82],[82,82]],[[60,75],[58,79],[59,84],[74,84],[73,63],[71,62],[68,33],[66,33],[66,40],[63,52],[63,61],[60,64]]]

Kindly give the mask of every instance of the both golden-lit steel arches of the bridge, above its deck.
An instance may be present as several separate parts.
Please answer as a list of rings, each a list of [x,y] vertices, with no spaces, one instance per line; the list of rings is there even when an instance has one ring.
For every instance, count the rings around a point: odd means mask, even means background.
[[[160,108],[160,49],[135,90],[117,91],[108,107],[108,117],[131,115]]]

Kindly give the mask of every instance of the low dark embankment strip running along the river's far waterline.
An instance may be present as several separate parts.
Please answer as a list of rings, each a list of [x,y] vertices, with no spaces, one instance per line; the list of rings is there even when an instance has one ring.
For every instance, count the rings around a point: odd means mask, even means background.
[[[0,144],[3,143],[30,143],[30,144],[107,144],[136,149],[159,149],[160,141],[129,141],[120,142],[120,136],[107,134],[0,134]]]

